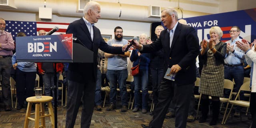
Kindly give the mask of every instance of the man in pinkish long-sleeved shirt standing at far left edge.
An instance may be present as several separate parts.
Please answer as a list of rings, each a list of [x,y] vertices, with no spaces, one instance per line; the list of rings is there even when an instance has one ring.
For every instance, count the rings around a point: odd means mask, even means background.
[[[12,34],[6,32],[5,21],[0,18],[0,72],[2,76],[2,95],[4,101],[4,110],[12,110],[11,92],[10,92],[10,74],[12,69],[12,50],[14,50],[14,41]]]

